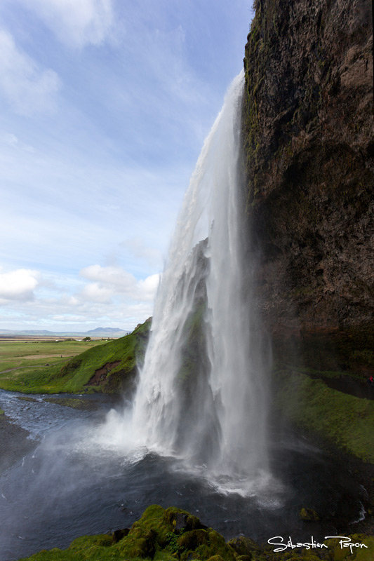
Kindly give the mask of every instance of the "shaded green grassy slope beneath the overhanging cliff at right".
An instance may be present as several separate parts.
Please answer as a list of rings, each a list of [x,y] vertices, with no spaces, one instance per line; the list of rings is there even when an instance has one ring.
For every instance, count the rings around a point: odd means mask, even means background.
[[[374,463],[374,401],[329,388],[300,372],[277,373],[276,406],[293,424]]]

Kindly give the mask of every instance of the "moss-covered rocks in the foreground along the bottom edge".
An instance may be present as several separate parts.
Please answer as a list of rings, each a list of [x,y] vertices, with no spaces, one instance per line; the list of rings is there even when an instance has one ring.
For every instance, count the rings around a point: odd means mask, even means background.
[[[199,518],[180,508],[152,505],[134,522],[131,529],[116,530],[112,535],[83,536],[65,550],[43,550],[29,561],[369,561],[373,559],[374,538],[364,534],[349,536],[352,548],[339,539],[329,540],[322,550],[301,549],[274,553],[274,546],[260,547],[240,536],[228,543],[201,524]],[[327,542],[326,542],[327,543]],[[25,560],[23,560],[25,561]]]

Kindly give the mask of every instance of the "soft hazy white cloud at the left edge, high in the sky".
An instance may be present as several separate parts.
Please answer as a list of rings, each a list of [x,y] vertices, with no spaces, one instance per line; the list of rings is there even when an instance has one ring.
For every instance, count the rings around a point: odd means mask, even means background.
[[[41,69],[15,45],[13,36],[0,29],[0,92],[21,115],[55,108],[60,79],[51,69]],[[13,146],[17,137],[8,138]]]

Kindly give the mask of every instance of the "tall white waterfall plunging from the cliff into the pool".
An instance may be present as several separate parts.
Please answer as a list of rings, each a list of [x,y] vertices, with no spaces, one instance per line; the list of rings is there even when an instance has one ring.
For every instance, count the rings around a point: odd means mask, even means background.
[[[252,492],[267,473],[268,353],[251,310],[253,273],[245,259],[242,91],[243,73],[229,88],[185,195],[156,297],[131,434],[148,449],[199,466],[218,486]]]

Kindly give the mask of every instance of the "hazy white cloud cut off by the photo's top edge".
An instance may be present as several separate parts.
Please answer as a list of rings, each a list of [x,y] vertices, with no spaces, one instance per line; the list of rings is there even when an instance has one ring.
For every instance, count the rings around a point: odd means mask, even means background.
[[[114,25],[112,0],[20,0],[71,47],[100,45]]]

